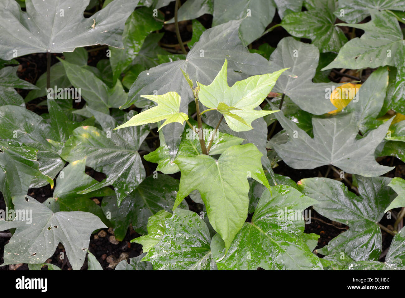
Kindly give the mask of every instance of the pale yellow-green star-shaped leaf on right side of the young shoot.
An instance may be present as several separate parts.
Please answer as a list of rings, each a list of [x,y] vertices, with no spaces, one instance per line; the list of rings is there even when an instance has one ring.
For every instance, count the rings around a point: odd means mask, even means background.
[[[265,75],[256,75],[228,86],[228,61],[225,60],[222,69],[210,85],[199,84],[201,87],[198,99],[210,109],[216,109],[224,115],[228,126],[236,131],[243,132],[252,129],[252,121],[278,111],[255,110],[267,97],[281,73],[288,69]],[[222,103],[220,109],[219,104]],[[230,112],[232,107],[234,111]]]

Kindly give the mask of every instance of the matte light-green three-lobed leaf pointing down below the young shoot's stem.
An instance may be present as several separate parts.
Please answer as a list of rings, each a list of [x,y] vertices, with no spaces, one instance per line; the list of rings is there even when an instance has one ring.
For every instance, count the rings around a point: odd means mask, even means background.
[[[270,187],[260,162],[261,156],[253,144],[229,147],[218,160],[209,155],[177,156],[175,163],[180,168],[181,180],[173,210],[197,189],[207,208],[210,224],[224,239],[228,249],[247,217],[247,177]],[[201,175],[204,179],[199,179]]]

